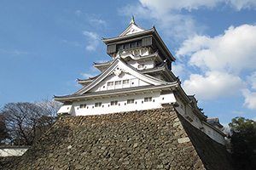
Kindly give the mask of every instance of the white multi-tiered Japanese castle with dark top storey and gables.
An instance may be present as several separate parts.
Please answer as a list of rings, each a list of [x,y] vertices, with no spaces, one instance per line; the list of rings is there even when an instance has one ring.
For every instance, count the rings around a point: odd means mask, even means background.
[[[79,79],[83,86],[79,91],[55,96],[63,103],[58,114],[89,116],[172,106],[194,127],[224,144],[223,126],[218,118],[207,118],[195,96],[183,91],[180,80],[172,73],[175,58],[154,27],[144,30],[132,17],[118,37],[102,38],[102,42],[112,59],[94,63],[102,73]]]

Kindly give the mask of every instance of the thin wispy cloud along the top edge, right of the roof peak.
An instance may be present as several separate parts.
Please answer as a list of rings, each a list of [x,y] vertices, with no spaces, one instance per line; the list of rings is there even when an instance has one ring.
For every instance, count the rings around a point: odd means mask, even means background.
[[[182,10],[197,10],[200,8],[218,8],[224,5],[241,10],[242,8],[255,8],[255,0],[140,0],[137,5],[127,5],[120,8],[119,13],[130,16],[132,11],[138,18],[154,20],[167,37],[176,42],[203,32],[207,27],[197,23],[193,16],[182,14]],[[131,17],[131,16],[130,16]]]

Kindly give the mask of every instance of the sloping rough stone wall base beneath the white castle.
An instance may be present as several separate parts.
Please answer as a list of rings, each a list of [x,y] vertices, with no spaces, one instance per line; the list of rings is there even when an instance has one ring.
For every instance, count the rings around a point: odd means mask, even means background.
[[[232,169],[224,146],[173,108],[63,116],[3,169]]]

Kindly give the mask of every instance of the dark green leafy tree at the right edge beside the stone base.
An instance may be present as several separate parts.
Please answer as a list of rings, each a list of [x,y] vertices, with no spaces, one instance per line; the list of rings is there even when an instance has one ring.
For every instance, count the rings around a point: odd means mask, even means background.
[[[232,119],[230,143],[238,169],[256,168],[256,122],[244,117]]]

